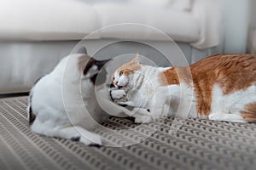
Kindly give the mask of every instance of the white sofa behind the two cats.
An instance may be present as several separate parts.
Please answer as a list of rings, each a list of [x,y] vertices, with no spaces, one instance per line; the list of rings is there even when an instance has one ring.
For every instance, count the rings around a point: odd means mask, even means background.
[[[234,31],[241,33],[240,42],[229,41],[234,34],[227,29],[235,23],[226,20],[231,17],[227,4],[240,9],[236,24],[241,25]],[[249,0],[1,0],[0,94],[27,92],[86,36],[88,53],[96,58],[138,50],[160,65],[166,64],[156,57],[160,51],[139,42],[173,48],[177,61],[182,55],[161,31],[177,42],[189,63],[210,54],[244,53],[247,10],[241,8],[248,4]],[[102,48],[102,42],[108,47]]]

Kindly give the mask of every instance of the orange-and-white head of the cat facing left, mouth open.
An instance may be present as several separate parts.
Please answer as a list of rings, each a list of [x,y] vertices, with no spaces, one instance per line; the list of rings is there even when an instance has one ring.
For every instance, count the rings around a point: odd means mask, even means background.
[[[140,70],[141,65],[138,61],[139,54],[131,59],[128,63],[121,65],[116,71],[113,72],[112,75],[112,84],[115,88],[119,89],[128,89],[131,87],[131,77],[135,73],[135,71]]]

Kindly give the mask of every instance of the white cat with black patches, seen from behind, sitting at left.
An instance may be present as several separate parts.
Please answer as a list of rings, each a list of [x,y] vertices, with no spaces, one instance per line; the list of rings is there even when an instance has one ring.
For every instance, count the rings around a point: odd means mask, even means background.
[[[71,54],[42,77],[32,88],[27,107],[32,131],[84,144],[102,144],[101,137],[91,130],[109,117],[95,94],[96,76],[106,62],[86,54]],[[108,98],[107,87],[100,93]],[[109,105],[113,115],[121,112],[121,107],[108,99],[102,99],[102,103]]]

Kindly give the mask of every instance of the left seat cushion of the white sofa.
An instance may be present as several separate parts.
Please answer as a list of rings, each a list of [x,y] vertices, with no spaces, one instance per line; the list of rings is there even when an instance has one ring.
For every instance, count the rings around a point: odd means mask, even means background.
[[[2,0],[0,38],[76,40],[100,26],[94,8],[71,0]]]

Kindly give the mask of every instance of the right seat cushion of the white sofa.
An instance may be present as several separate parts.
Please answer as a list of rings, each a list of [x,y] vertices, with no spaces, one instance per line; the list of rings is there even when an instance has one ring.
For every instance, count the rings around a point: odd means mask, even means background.
[[[143,29],[126,27],[124,29],[102,30],[101,37],[131,38],[143,40],[166,40],[155,35],[154,28],[165,32],[172,39],[181,42],[195,42],[199,39],[200,28],[198,20],[189,12],[177,8],[144,5],[135,3],[116,4],[101,3],[95,6],[101,16],[102,27],[121,23],[135,23],[145,25]],[[150,28],[153,26],[154,28]],[[133,29],[134,28],[134,29]]]

